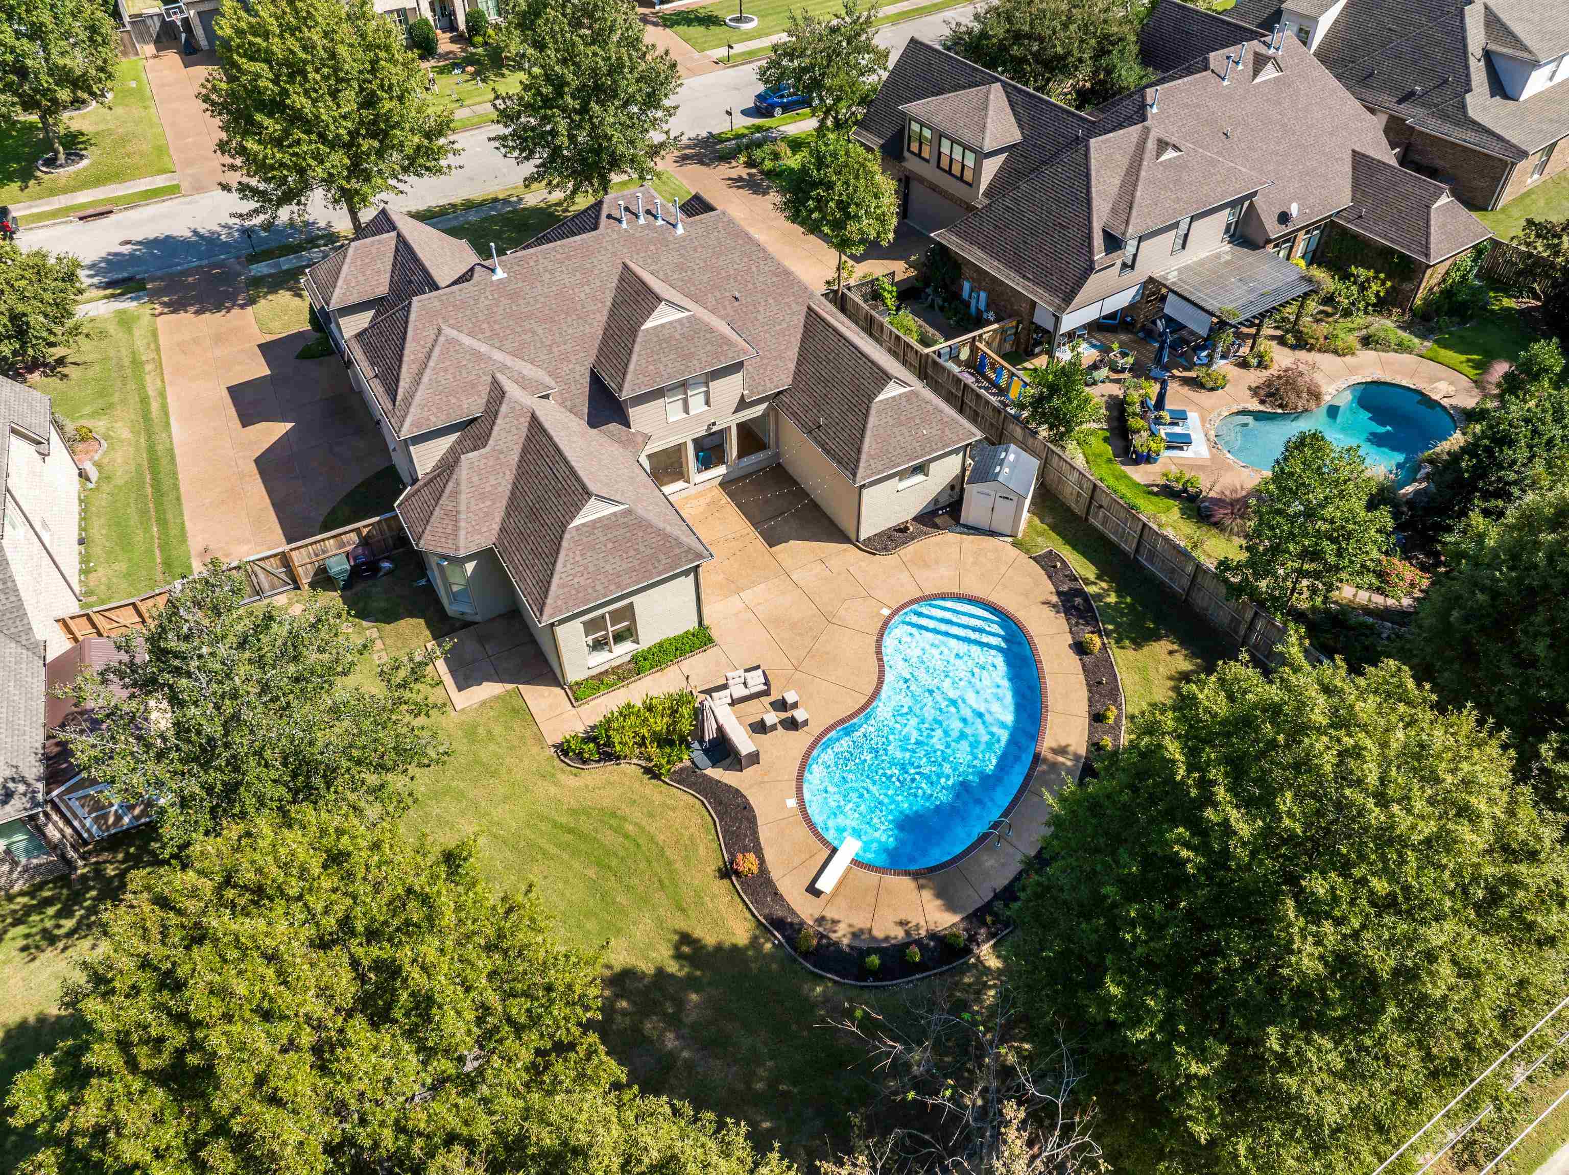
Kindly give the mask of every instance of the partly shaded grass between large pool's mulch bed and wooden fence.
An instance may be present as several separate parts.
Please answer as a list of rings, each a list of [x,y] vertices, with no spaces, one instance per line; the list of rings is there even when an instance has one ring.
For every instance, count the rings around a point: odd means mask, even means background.
[[[1183,679],[1236,654],[1236,645],[1200,620],[1153,574],[1042,489],[1015,546],[1061,551],[1095,598],[1111,638],[1128,714],[1164,701]]]

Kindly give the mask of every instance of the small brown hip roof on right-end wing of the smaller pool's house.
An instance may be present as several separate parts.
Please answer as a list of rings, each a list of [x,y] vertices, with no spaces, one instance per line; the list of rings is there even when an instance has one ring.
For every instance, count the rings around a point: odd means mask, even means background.
[[[1437,180],[1360,151],[1351,166],[1356,201],[1335,220],[1363,237],[1436,265],[1492,235]]]

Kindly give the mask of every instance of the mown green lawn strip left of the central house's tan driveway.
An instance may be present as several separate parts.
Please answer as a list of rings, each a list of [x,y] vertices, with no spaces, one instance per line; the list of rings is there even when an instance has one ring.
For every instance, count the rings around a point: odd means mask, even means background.
[[[38,391],[71,425],[89,425],[108,442],[97,485],[82,494],[86,602],[108,604],[190,574],[152,311],[143,304],[93,318],[86,339]]]

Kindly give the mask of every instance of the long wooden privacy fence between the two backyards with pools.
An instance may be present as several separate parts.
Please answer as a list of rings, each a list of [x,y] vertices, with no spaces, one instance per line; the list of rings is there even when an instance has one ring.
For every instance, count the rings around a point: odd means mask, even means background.
[[[1068,460],[1067,453],[1036,433],[1014,411],[1003,406],[998,394],[973,384],[960,375],[973,355],[940,358],[943,348],[923,350],[888,326],[860,300],[846,300],[846,314],[876,339],[883,350],[921,377],[921,381],[979,428],[993,444],[1017,444],[1040,460],[1040,483],[1075,515],[1100,530],[1127,552],[1133,562],[1159,579],[1183,604],[1232,637],[1268,665],[1280,662],[1279,645],[1285,624],[1246,599],[1233,599],[1219,573],[1192,554],[1183,543],[1163,532],[1138,510],[1112,494],[1105,485]],[[1001,326],[999,323],[998,326]],[[996,328],[988,328],[996,329]],[[979,331],[984,336],[987,331]],[[979,337],[974,347],[984,347]],[[910,348],[918,353],[915,358]],[[974,348],[971,348],[973,351]],[[985,347],[985,350],[993,350]]]

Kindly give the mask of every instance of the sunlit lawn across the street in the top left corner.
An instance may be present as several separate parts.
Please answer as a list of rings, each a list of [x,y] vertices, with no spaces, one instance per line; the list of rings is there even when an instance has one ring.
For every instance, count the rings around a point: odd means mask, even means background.
[[[97,105],[67,124],[66,151],[86,151],[91,162],[77,171],[46,176],[33,168],[50,151],[36,119],[0,121],[0,204],[67,196],[174,171],[140,60],[119,63],[113,110]],[[30,220],[41,221],[42,213]]]

